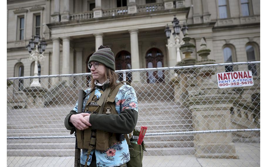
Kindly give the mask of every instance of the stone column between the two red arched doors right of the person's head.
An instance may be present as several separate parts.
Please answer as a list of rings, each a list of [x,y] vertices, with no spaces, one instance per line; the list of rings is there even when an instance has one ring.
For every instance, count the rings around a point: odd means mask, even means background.
[[[139,49],[138,49],[138,29],[129,30],[131,38],[131,66],[132,69],[140,69],[139,61]],[[132,74],[133,83],[140,81],[139,72],[133,72]]]

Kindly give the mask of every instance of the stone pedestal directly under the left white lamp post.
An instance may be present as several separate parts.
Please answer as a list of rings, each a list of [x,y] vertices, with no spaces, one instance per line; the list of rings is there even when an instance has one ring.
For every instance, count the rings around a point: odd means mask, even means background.
[[[42,87],[28,87],[23,89],[27,96],[26,108],[40,108],[44,107],[45,94],[48,90]]]

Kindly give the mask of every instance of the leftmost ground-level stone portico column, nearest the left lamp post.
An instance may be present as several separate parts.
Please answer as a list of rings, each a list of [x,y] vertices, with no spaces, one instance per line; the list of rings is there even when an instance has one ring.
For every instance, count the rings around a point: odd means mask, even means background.
[[[52,75],[59,75],[59,60],[60,60],[60,39],[55,38],[53,39],[53,53],[52,53]],[[51,85],[58,84],[59,78],[52,78]]]

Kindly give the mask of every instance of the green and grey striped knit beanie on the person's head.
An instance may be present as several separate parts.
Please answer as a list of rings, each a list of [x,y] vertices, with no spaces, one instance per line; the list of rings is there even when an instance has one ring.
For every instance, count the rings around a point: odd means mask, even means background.
[[[111,51],[109,46],[100,45],[98,50],[92,54],[90,57],[88,64],[92,61],[96,61],[104,64],[106,67],[115,71],[115,58],[114,53]]]

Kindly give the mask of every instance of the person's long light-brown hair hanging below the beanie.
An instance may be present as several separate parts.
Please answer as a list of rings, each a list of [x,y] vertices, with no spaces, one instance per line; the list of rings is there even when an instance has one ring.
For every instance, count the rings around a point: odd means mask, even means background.
[[[106,67],[106,66],[105,66]],[[118,74],[115,73],[115,71],[111,70],[110,68],[106,67],[105,69],[105,80],[109,79],[109,86],[113,88],[116,84],[116,81],[118,80]],[[89,81],[89,88],[91,90],[94,90],[95,84],[94,84],[93,76],[91,76],[91,80]]]

